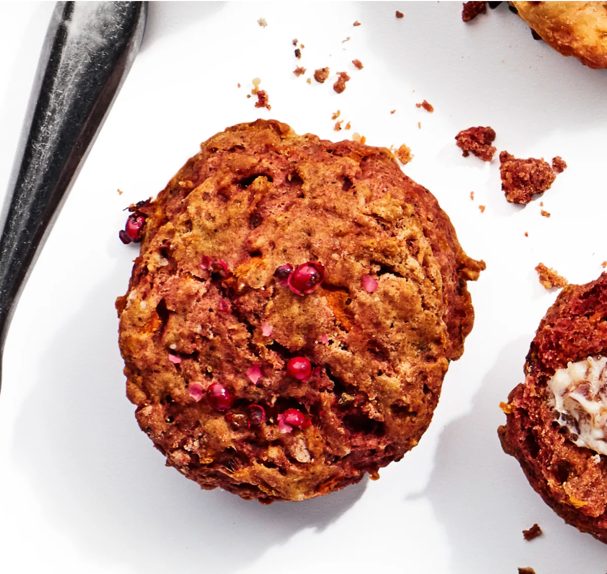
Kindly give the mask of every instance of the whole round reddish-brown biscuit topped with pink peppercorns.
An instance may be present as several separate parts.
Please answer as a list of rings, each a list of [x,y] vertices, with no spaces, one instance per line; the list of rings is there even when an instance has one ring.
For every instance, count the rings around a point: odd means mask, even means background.
[[[120,349],[169,466],[297,501],[418,443],[484,263],[390,151],[257,120],[203,143],[138,208]]]

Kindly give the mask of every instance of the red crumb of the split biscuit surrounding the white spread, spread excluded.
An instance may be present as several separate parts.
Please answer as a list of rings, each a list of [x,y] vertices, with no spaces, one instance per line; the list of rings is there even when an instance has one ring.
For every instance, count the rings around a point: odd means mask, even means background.
[[[509,395],[504,451],[520,462],[532,487],[566,522],[607,542],[607,460],[580,448],[554,421],[547,381],[555,369],[607,348],[607,274],[568,285],[538,327],[526,378]]]

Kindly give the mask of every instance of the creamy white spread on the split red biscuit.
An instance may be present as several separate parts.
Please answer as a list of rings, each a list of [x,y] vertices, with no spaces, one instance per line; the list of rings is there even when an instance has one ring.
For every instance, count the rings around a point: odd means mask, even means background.
[[[557,369],[548,381],[557,422],[574,445],[607,455],[607,357],[588,357]]]

